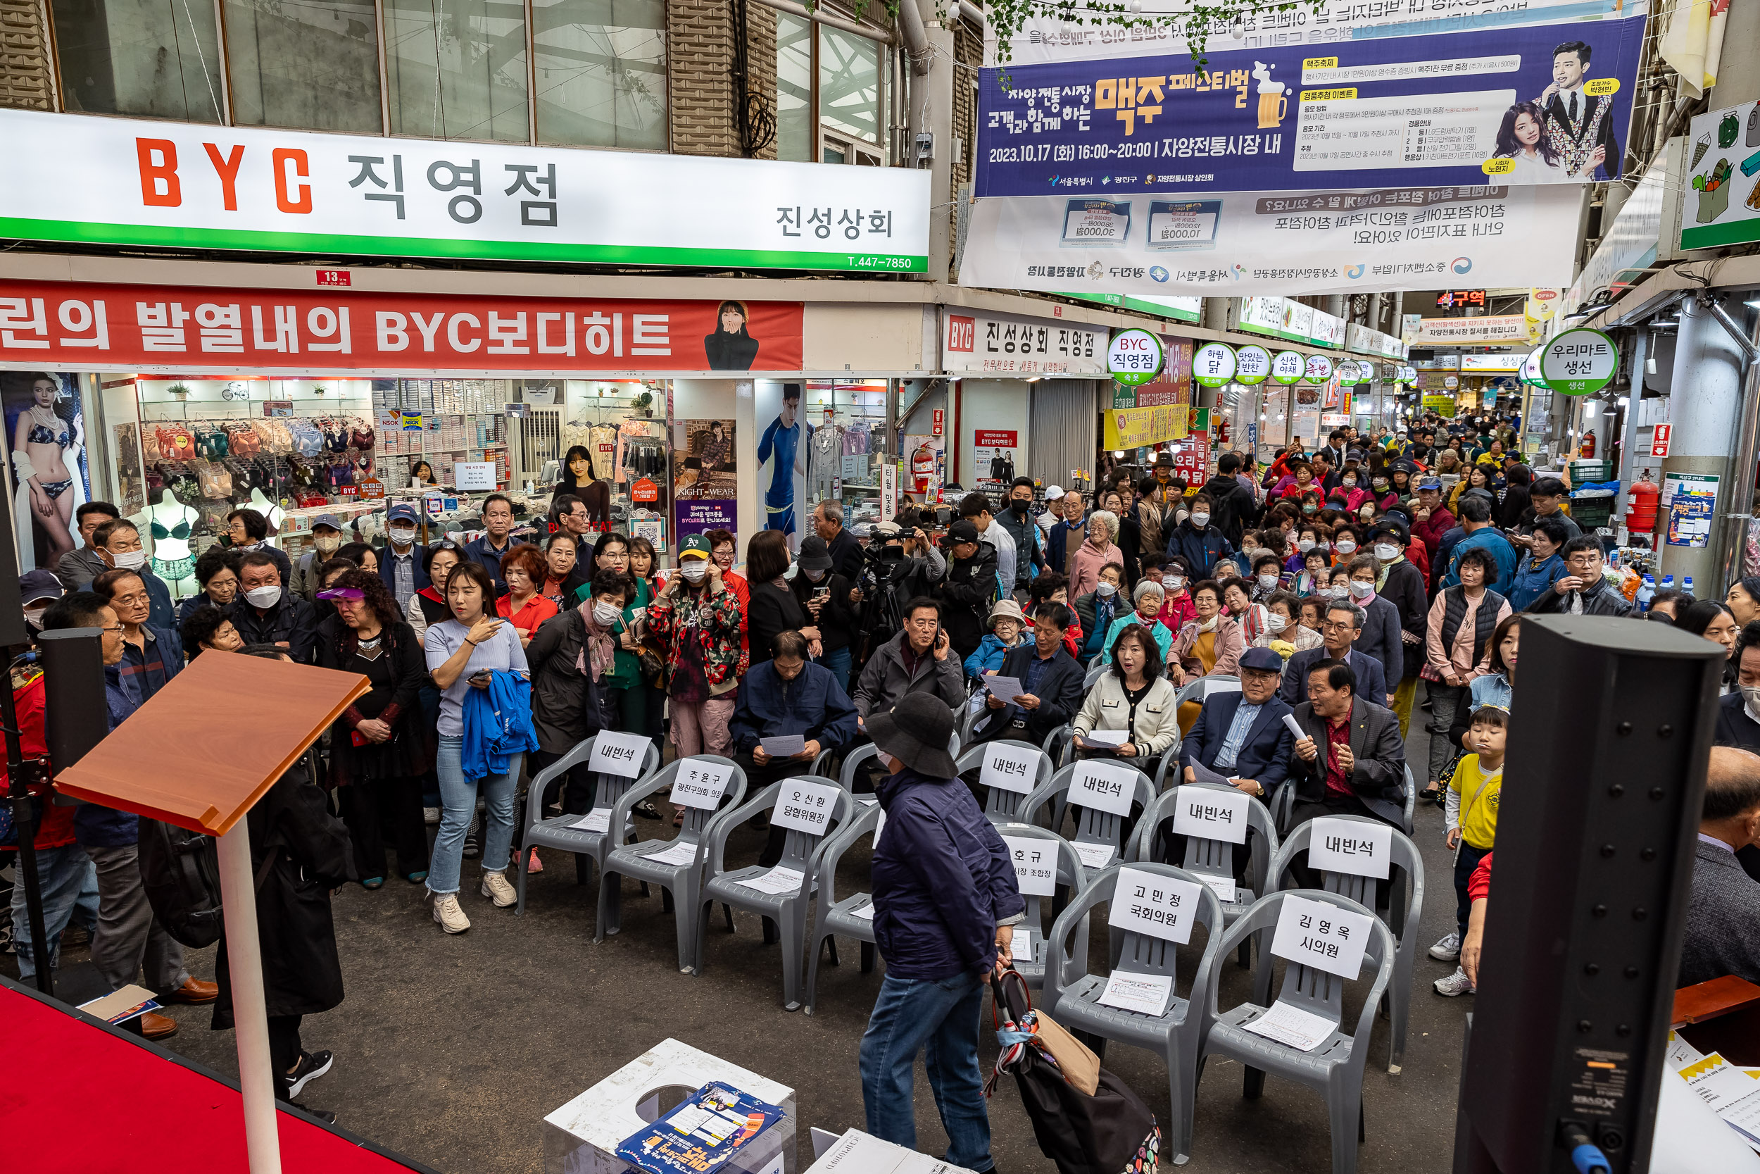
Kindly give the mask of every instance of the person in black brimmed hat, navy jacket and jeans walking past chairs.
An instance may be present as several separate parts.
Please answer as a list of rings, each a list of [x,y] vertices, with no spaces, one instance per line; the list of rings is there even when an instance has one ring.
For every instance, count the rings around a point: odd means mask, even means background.
[[[947,753],[952,711],[912,693],[876,713],[869,734],[891,774],[878,789],[887,824],[871,873],[887,973],[861,1047],[868,1132],[917,1148],[912,1070],[928,1047],[947,1162],[984,1174],[996,1167],[979,1070],[984,984],[1007,970],[1026,901],[1008,847]]]

